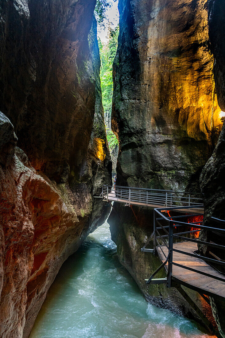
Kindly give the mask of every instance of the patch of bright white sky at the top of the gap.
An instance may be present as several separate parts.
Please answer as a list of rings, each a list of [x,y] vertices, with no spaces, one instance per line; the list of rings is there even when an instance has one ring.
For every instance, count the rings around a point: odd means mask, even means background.
[[[97,27],[97,35],[102,42],[107,42],[108,35],[108,25],[111,24],[112,28],[115,28],[119,23],[119,10],[118,10],[118,0],[110,1],[112,6],[107,9],[106,15],[107,18],[104,20],[105,28]]]

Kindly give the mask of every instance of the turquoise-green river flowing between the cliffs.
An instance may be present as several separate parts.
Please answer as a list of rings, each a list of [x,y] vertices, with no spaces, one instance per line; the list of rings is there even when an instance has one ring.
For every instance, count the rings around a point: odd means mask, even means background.
[[[62,265],[29,338],[200,338],[196,323],[148,304],[105,222]]]

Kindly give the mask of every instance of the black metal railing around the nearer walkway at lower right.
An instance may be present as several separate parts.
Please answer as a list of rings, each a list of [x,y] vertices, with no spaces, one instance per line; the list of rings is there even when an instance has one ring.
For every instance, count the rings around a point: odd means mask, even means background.
[[[219,250],[225,250],[224,245],[212,243],[211,241],[206,242],[206,241],[203,241],[203,240],[199,240],[199,238],[186,237],[186,236],[191,236],[191,235],[199,232],[200,230],[207,230],[207,231],[210,231],[212,233],[216,233],[216,234],[219,234],[220,236],[225,237],[225,229],[224,228],[205,226],[205,225],[202,225],[202,221],[187,223],[187,222],[183,222],[183,221],[179,220],[180,218],[186,218],[186,217],[190,218],[190,217],[196,216],[196,213],[193,213],[193,210],[194,210],[194,208],[198,208],[198,207],[201,207],[201,206],[192,206],[189,209],[190,210],[189,214],[184,214],[184,215],[180,215],[180,216],[170,216],[170,214],[171,214],[172,211],[176,211],[176,210],[181,211],[184,208],[185,208],[185,213],[186,213],[187,212],[186,207],[167,208],[167,210],[154,209],[154,231],[153,231],[151,237],[148,239],[147,243],[142,248],[142,251],[148,251],[149,250],[149,252],[153,252],[153,254],[156,255],[156,247],[157,247],[163,253],[163,255],[165,257],[165,262],[163,264],[161,264],[160,267],[151,275],[151,277],[146,282],[146,284],[151,283],[151,280],[156,275],[156,273],[161,268],[163,268],[167,264],[167,262],[168,262],[168,272],[167,272],[167,279],[166,279],[167,287],[171,287],[173,266],[178,266],[178,267],[181,267],[183,269],[187,269],[187,270],[190,270],[190,271],[193,271],[193,272],[197,272],[201,275],[211,277],[212,279],[225,282],[225,276],[223,278],[223,277],[220,277],[220,276],[212,275],[212,274],[206,273],[204,271],[194,269],[190,266],[181,265],[181,264],[173,261],[173,252],[178,252],[178,253],[186,255],[186,256],[191,256],[191,257],[194,257],[194,258],[201,259],[205,262],[208,262],[212,266],[214,266],[214,264],[216,264],[216,265],[221,265],[221,266],[225,267],[225,260],[212,259],[212,258],[209,258],[209,257],[198,255],[195,252],[191,253],[191,252],[176,249],[174,247],[174,240],[176,241],[176,243],[179,243],[179,240],[181,240],[180,242],[184,242],[184,241],[185,242],[186,241],[187,242],[194,242],[196,244],[206,245],[207,247],[213,247],[213,248],[217,248]],[[167,213],[167,216],[166,216],[166,213]],[[203,215],[203,214],[197,214],[197,215]],[[220,222],[220,223],[225,223],[225,221],[215,219],[214,217],[211,217],[211,220],[217,221],[217,222]],[[181,231],[179,230],[180,227],[182,229]],[[160,234],[161,231],[163,231],[163,235]],[[152,237],[153,237],[154,249],[145,249],[146,246],[149,244]],[[165,255],[165,252],[162,249],[162,246],[167,247],[168,255]]]

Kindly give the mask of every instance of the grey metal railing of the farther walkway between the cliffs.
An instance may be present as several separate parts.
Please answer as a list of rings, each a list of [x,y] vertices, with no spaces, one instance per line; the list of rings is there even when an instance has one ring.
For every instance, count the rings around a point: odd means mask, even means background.
[[[172,190],[145,189],[120,186],[102,186],[103,200],[114,200],[126,205],[158,205],[163,207],[195,206],[203,203],[201,194],[176,192]]]

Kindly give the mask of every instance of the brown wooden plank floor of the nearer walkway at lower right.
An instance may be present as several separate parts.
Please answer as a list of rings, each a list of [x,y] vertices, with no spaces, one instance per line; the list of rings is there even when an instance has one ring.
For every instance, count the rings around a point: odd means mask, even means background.
[[[174,249],[182,250],[187,253],[193,254],[194,251],[198,250],[197,243],[193,242],[181,242],[181,243],[174,243]],[[165,245],[161,246],[161,249],[164,251],[166,257],[168,256],[168,249]],[[161,251],[160,247],[157,246],[156,250],[160,260],[164,263],[165,256]],[[209,295],[209,296],[220,296],[225,298],[225,275],[219,273],[216,269],[210,266],[208,263],[204,262],[203,260],[187,256],[184,254],[180,254],[179,252],[173,251],[173,262],[178,263],[187,267],[198,269],[199,271],[203,271],[206,273],[211,274],[212,276],[221,277],[224,279],[224,282],[218,281],[213,277],[207,277],[200,273],[193,272],[176,265],[173,265],[173,272],[172,272],[172,280],[182,284],[184,286],[188,286],[200,293]],[[165,266],[166,270],[168,271],[168,263]]]

